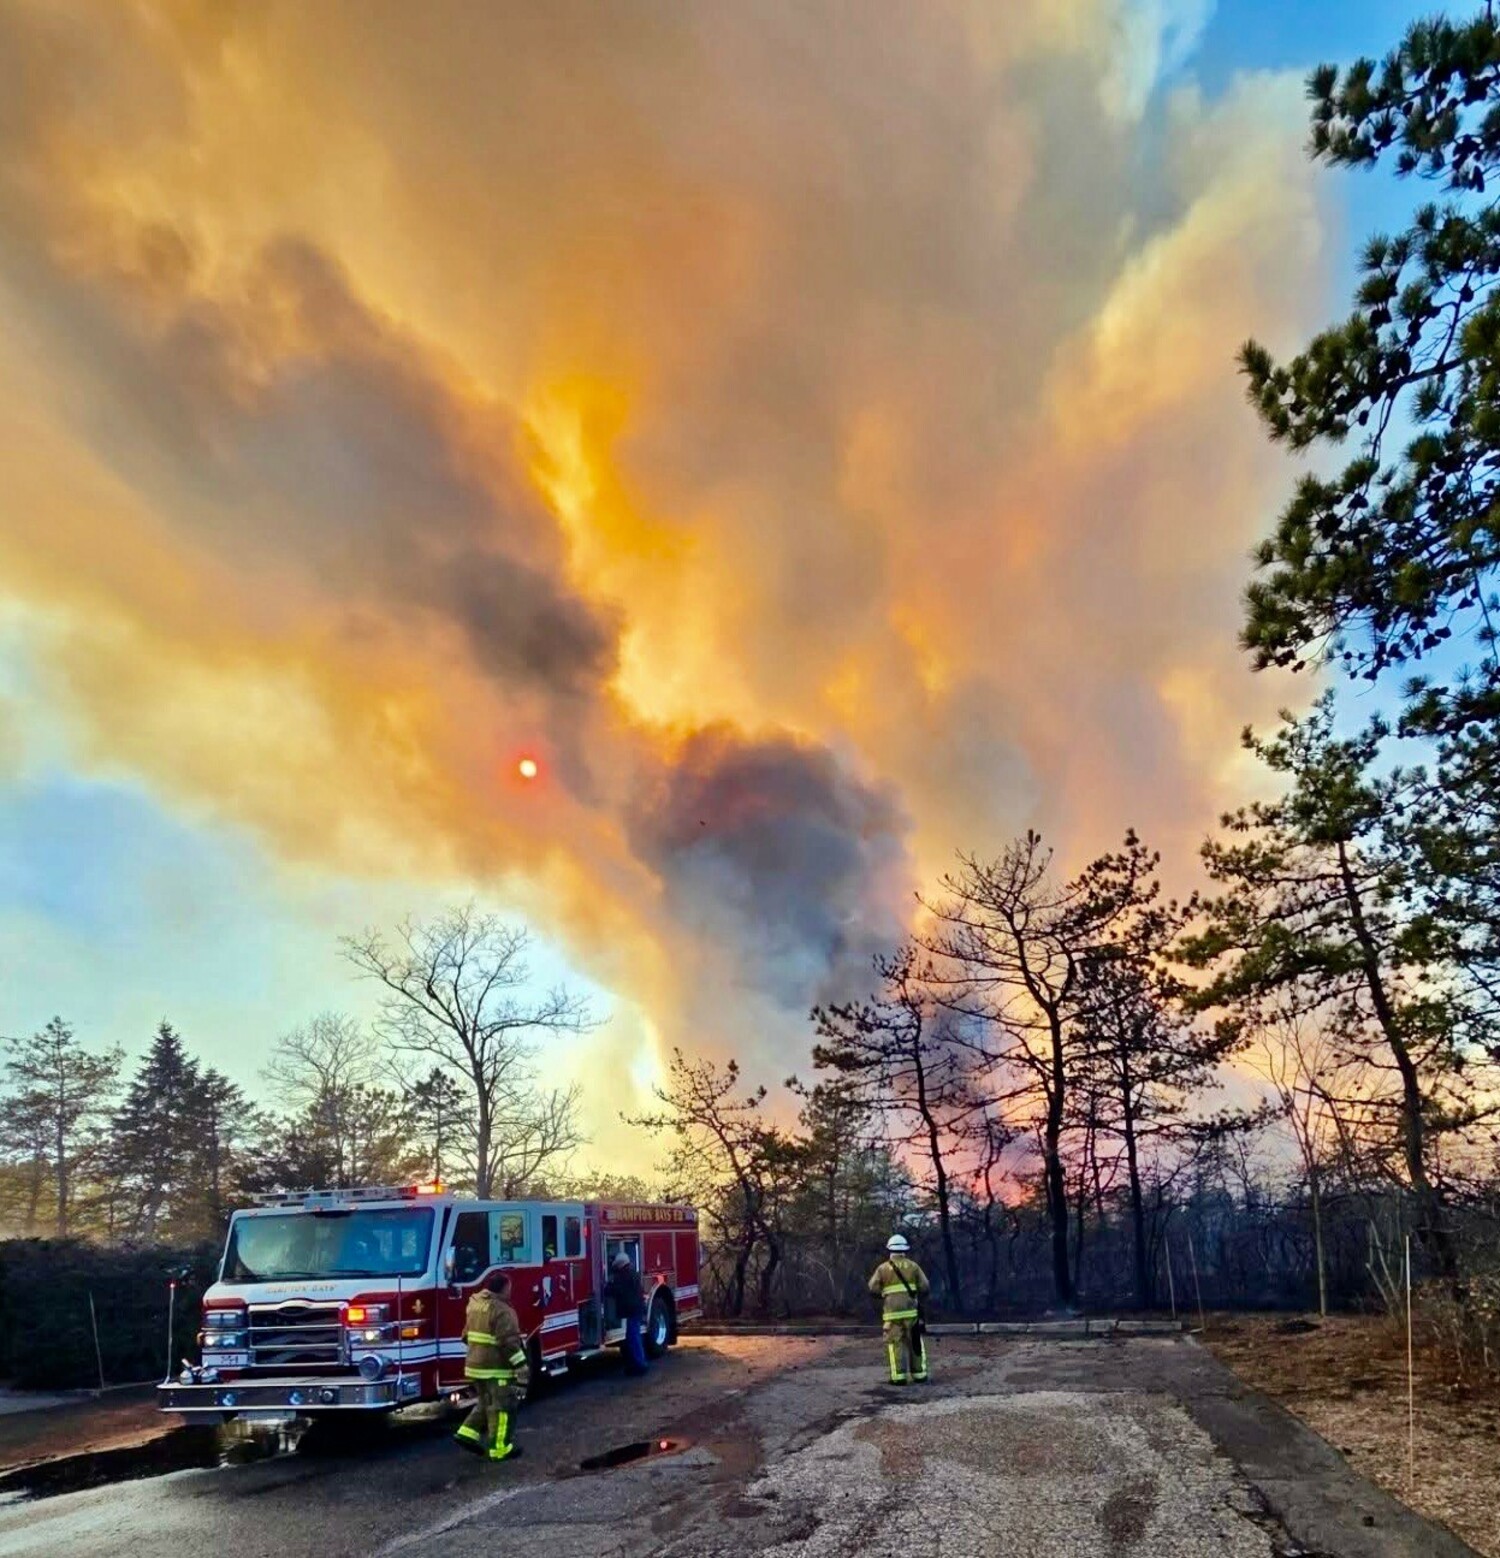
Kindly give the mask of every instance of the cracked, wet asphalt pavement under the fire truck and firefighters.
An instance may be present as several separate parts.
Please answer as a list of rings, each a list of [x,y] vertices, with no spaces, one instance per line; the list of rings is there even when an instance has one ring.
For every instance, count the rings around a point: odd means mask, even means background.
[[[1190,1338],[953,1337],[931,1355],[935,1380],[897,1390],[874,1332],[685,1340],[643,1380],[597,1366],[526,1408],[519,1461],[463,1457],[442,1421],[324,1432],[251,1465],[9,1494],[0,1558],[1470,1552]]]

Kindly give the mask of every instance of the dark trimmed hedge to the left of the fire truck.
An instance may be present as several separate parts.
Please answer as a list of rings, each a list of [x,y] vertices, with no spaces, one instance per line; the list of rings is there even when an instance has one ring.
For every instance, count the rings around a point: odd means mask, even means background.
[[[0,1379],[30,1390],[93,1387],[100,1366],[89,1321],[98,1315],[109,1385],[160,1379],[167,1368],[167,1288],[178,1281],[173,1365],[198,1355],[199,1301],[218,1248],[112,1250],[76,1239],[0,1243]]]

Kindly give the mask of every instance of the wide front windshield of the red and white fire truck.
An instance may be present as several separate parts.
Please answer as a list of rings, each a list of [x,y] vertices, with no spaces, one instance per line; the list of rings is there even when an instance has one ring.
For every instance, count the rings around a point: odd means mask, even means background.
[[[422,1276],[431,1228],[430,1206],[241,1215],[229,1225],[223,1279]]]

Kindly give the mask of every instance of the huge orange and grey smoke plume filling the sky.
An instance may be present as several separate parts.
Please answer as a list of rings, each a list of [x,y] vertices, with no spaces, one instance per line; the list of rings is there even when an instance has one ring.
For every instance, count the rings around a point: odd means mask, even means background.
[[[1185,869],[1276,703],[1234,351],[1322,302],[1299,86],[1206,98],[1207,14],[9,6],[0,578],[73,760],[514,905],[626,1094],[790,1069],[958,846]]]

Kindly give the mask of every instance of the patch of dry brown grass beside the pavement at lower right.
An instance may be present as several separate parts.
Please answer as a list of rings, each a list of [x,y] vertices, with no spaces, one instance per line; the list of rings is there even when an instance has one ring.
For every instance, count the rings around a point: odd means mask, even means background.
[[[1355,1471],[1500,1558],[1500,1391],[1461,1391],[1436,1354],[1416,1357],[1416,1475],[1407,1457],[1407,1349],[1385,1320],[1210,1318],[1207,1343],[1248,1385],[1343,1450]],[[1294,1323],[1296,1324],[1296,1323]]]

